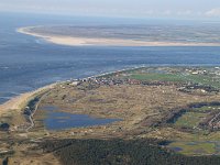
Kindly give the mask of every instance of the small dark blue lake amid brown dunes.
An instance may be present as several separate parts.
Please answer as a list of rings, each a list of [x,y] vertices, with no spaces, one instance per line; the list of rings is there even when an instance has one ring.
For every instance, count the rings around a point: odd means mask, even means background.
[[[63,130],[70,128],[103,125],[112,123],[114,121],[120,121],[120,119],[100,119],[87,114],[58,112],[58,109],[53,106],[43,107],[42,110],[47,111],[46,119],[44,119],[43,121],[47,130]]]

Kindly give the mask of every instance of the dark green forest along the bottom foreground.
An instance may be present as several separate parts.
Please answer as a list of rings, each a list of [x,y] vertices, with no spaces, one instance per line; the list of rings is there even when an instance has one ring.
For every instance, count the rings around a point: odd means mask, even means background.
[[[219,156],[184,156],[157,140],[50,140],[41,144],[65,165],[218,165]]]

